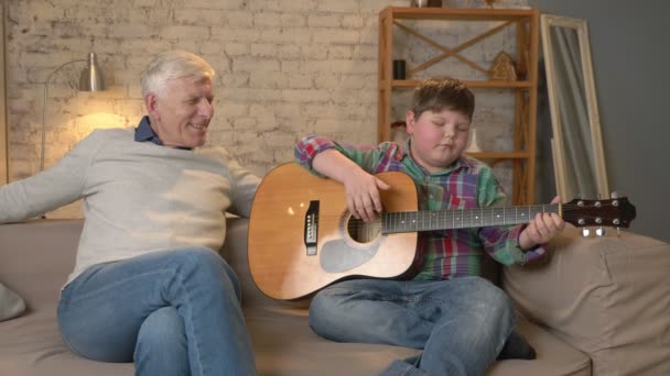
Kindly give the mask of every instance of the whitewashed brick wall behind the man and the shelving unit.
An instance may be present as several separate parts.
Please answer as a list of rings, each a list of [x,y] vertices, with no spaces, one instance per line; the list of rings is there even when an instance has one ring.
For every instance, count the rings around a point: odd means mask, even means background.
[[[445,0],[445,5],[464,1]],[[483,1],[472,1],[480,5]],[[108,91],[77,93],[82,64],[54,76],[47,107],[46,165],[95,128],[136,126],[144,114],[139,78],[158,52],[201,54],[217,70],[209,142],[221,144],[259,175],[292,158],[301,136],[320,132],[352,143],[375,143],[378,12],[410,0],[21,0],[8,10],[10,174],[20,179],[40,164],[43,88],[60,64],[98,55]],[[499,1],[499,7],[527,0]],[[446,45],[474,31],[444,24]],[[509,33],[466,52],[486,62],[514,47]],[[410,64],[426,54],[408,42]],[[432,55],[431,55],[432,56]],[[447,60],[442,69],[469,74]],[[431,70],[439,74],[440,70]],[[484,145],[509,145],[509,100],[484,96],[476,120],[494,129]],[[406,101],[397,101],[396,113]],[[489,101],[491,104],[487,104]],[[491,124],[499,124],[493,126]],[[505,173],[504,173],[505,174]],[[77,217],[68,207],[51,217]]]

